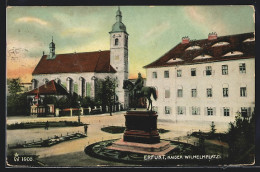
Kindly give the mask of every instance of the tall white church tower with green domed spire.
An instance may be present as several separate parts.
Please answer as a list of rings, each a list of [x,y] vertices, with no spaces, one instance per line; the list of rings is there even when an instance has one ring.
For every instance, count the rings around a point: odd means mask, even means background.
[[[116,12],[116,23],[110,34],[110,64],[117,71],[117,95],[119,102],[128,108],[128,92],[123,89],[123,81],[128,79],[128,33],[122,23],[120,8]]]

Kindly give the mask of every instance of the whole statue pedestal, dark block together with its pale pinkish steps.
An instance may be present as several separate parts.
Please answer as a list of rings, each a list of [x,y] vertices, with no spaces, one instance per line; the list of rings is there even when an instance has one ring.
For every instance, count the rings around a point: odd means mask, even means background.
[[[107,149],[165,155],[174,149],[174,146],[170,145],[170,142],[160,142],[157,116],[154,111],[127,111],[123,139],[114,142]]]

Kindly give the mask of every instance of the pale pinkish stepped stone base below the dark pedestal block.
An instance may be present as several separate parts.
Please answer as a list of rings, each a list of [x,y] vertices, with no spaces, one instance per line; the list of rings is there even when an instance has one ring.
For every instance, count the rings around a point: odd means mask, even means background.
[[[166,153],[173,150],[175,146],[170,145],[169,142],[162,141],[155,144],[145,144],[145,143],[135,143],[135,142],[126,142],[123,139],[114,142],[111,146],[108,146],[107,149],[142,153],[142,154],[152,154],[152,155],[165,155]]]

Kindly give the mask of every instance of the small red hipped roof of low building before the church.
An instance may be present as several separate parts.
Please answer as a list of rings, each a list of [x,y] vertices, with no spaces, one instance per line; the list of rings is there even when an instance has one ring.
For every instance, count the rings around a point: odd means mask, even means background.
[[[47,82],[46,84],[35,88],[32,91],[27,92],[29,95],[67,95],[68,92],[61,85],[57,84],[54,80]]]

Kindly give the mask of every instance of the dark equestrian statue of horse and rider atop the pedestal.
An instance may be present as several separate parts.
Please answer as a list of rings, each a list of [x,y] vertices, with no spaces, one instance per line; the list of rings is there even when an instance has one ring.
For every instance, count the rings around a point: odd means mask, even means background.
[[[134,100],[134,109],[136,110],[137,102],[139,98],[145,97],[149,101],[147,110],[152,111],[153,103],[151,100],[151,94],[153,95],[154,100],[157,99],[156,89],[154,87],[144,87],[144,79],[141,76],[141,73],[138,73],[138,78],[135,83],[132,83],[129,80],[124,80],[123,89],[128,89],[130,94],[133,96]]]

